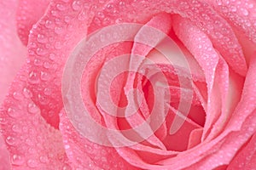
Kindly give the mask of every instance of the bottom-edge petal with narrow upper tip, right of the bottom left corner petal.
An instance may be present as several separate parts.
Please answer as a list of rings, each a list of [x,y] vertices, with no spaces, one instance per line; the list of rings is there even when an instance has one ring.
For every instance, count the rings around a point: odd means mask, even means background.
[[[65,111],[61,111],[60,129],[67,156],[73,162],[73,168],[137,169],[123,160],[114,148],[93,143],[79,135],[68,120]]]

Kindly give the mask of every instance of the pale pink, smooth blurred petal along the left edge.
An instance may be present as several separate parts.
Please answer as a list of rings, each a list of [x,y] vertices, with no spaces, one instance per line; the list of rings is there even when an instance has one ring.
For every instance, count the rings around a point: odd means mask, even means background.
[[[25,61],[26,48],[16,34],[17,0],[0,3],[0,104],[8,93],[10,83]]]

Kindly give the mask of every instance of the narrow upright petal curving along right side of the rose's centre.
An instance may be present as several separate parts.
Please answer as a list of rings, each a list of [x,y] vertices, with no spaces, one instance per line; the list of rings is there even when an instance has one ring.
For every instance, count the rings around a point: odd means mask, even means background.
[[[207,122],[204,129],[204,133],[206,133],[211,127],[211,123],[218,117],[220,109],[217,95],[218,91],[216,91],[217,88],[213,87],[215,70],[218,65],[218,54],[213,49],[212,42],[207,36],[193,26],[189,20],[176,17],[174,23],[176,23],[174,30],[177,32],[177,37],[180,37],[187,48],[189,48],[190,52],[194,54],[195,59],[197,59],[206,75],[208,89],[208,102],[207,108],[205,108],[207,112]],[[209,101],[211,101],[211,103],[209,103]]]

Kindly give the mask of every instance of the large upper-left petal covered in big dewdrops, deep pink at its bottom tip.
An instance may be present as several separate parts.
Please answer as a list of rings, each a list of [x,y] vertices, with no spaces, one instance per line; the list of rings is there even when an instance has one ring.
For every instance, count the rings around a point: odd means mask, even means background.
[[[49,4],[44,17],[32,27],[28,42],[28,82],[34,94],[32,100],[55,128],[59,126],[58,112],[63,107],[61,75],[65,62],[71,50],[87,34],[95,13],[90,7],[100,9],[103,5],[87,1],[66,2]]]

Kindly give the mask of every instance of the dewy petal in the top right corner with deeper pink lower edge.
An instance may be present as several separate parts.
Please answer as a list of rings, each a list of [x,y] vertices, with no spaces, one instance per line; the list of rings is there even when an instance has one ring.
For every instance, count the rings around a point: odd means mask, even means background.
[[[246,1],[207,1],[212,7],[221,14],[230,26],[236,31],[243,51],[247,56],[247,61],[256,50],[256,2],[254,0]]]

